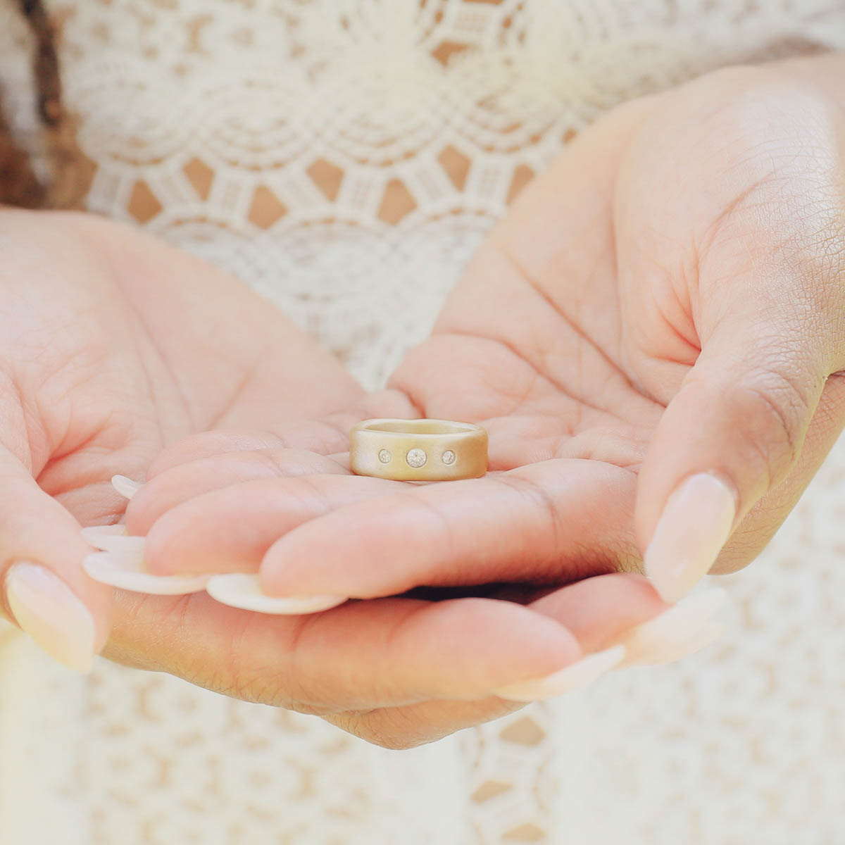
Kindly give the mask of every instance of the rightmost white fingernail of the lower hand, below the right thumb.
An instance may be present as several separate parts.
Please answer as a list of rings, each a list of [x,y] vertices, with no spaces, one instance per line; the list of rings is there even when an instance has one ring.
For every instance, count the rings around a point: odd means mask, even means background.
[[[706,641],[702,642],[702,637],[714,627],[711,617],[727,595],[720,588],[702,591],[615,638],[613,645],[625,647],[619,668],[679,660],[709,645],[712,639],[704,637]],[[722,629],[721,625],[716,627]]]

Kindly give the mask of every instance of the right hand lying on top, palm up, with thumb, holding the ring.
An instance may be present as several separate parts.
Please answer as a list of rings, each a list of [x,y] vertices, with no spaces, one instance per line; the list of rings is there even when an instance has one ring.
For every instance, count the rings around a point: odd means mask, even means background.
[[[673,602],[748,564],[845,418],[843,127],[814,67],[720,71],[570,144],[390,379],[425,417],[485,426],[491,472],[271,482],[309,504],[253,523],[265,591],[554,586],[645,558]],[[222,524],[239,494],[180,512]],[[162,518],[165,572],[202,541]]]

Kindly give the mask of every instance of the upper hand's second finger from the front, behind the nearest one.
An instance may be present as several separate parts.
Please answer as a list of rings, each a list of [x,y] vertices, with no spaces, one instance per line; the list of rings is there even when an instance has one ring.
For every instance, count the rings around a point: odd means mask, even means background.
[[[340,475],[243,482],[204,493],[161,516],[147,534],[144,559],[155,575],[256,572],[264,553],[286,532],[402,487],[384,478]],[[133,522],[128,526],[136,528]]]

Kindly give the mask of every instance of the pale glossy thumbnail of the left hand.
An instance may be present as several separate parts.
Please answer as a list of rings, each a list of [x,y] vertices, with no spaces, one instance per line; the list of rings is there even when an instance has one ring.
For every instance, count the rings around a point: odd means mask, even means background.
[[[94,617],[73,590],[45,567],[19,560],[6,574],[14,618],[44,651],[77,672],[94,663]]]

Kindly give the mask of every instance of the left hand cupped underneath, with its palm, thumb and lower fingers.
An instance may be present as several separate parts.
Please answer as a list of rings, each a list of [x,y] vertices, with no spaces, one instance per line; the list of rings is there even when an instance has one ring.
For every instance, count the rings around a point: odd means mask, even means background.
[[[321,450],[372,403],[416,413],[396,391],[363,395],[281,314],[150,237],[93,216],[2,210],[0,243],[3,614],[74,668],[88,668],[109,637],[112,592],[84,574],[91,549],[79,529],[123,514],[112,474],[144,477],[162,449],[215,426],[298,430]],[[628,596],[625,612],[602,613],[614,596]],[[553,691],[583,682],[602,668],[585,670],[585,651],[664,608],[635,581],[555,602],[534,613],[496,599],[407,598],[282,619],[205,595],[116,591],[104,653],[228,695],[324,711],[352,733],[406,747],[521,706],[490,695],[503,684],[573,663],[580,674]],[[453,658],[445,670],[442,643]]]

